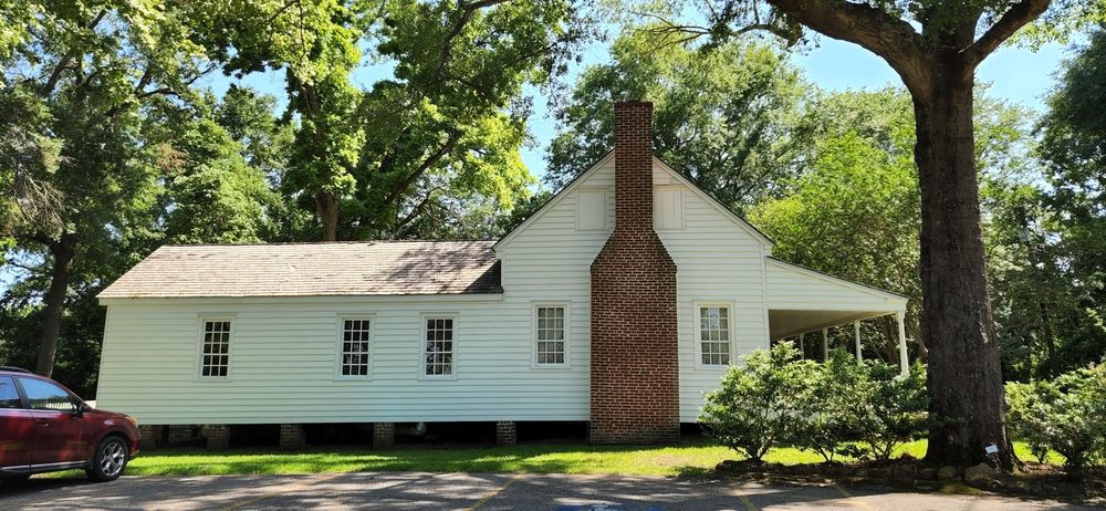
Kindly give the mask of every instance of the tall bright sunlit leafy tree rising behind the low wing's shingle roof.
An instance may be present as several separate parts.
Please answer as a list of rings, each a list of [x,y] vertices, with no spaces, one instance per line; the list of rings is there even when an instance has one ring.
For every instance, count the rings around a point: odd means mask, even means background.
[[[576,15],[541,0],[236,1],[194,30],[228,73],[285,70],[295,128],[280,188],[314,237],[442,237],[526,197],[518,97],[564,71]],[[366,58],[390,76],[362,91],[351,74]]]

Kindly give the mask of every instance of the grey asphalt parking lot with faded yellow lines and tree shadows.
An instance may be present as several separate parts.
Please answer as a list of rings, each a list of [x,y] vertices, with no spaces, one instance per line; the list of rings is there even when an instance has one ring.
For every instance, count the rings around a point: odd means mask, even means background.
[[[999,496],[881,487],[765,486],[617,476],[359,472],[311,476],[125,477],[95,484],[32,478],[0,486],[0,509],[270,510],[1092,510]]]

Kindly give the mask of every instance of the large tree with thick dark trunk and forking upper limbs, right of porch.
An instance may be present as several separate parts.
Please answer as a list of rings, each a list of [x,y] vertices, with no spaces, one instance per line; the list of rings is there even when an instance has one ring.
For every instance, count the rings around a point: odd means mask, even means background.
[[[921,188],[921,336],[929,346],[935,419],[930,462],[975,463],[995,445],[1002,465],[1014,463],[988,298],[972,93],[979,64],[1050,3],[706,0],[706,23],[671,23],[674,30],[713,39],[766,30],[794,42],[804,29],[813,30],[875,53],[909,90]]]

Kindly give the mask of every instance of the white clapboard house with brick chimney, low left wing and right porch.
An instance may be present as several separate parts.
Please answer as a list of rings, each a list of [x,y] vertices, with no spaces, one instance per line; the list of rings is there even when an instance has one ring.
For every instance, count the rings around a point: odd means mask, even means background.
[[[500,240],[167,246],[100,294],[98,405],[144,432],[205,425],[587,421],[664,441],[771,341],[895,315],[900,295],[772,258],[772,241],[655,158],[651,105]],[[814,341],[807,335],[806,342]]]

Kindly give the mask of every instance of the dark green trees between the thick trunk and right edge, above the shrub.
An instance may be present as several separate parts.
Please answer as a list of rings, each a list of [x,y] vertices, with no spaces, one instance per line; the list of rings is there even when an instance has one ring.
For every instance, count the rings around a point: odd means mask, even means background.
[[[1103,357],[1106,115],[1096,81],[1106,79],[1104,51],[1106,38],[1097,33],[1066,65],[1040,122],[1041,142],[1030,146],[1041,158],[1008,160],[1005,179],[982,182],[989,280],[1009,379],[1050,378]]]

